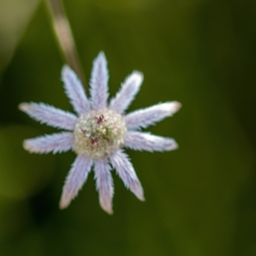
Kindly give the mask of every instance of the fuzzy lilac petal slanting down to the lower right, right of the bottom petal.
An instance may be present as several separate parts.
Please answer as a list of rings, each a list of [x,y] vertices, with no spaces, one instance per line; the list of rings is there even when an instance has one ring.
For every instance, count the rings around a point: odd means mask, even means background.
[[[123,180],[125,187],[130,189],[141,201],[144,201],[143,188],[127,154],[122,150],[117,150],[110,156],[110,161],[119,177]]]

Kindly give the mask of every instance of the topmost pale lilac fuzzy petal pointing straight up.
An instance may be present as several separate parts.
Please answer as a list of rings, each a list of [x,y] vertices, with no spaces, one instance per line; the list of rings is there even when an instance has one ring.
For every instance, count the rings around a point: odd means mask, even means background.
[[[93,109],[106,108],[108,101],[108,63],[104,52],[93,61],[90,79],[90,94]]]

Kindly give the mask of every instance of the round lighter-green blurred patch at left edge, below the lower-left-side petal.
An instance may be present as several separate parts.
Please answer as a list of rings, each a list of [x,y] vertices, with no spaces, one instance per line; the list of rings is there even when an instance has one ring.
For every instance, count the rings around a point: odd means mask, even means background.
[[[28,198],[40,190],[45,179],[49,179],[52,157],[32,156],[20,147],[31,135],[38,133],[25,125],[8,125],[0,129],[0,145],[4,148],[0,155],[0,195]]]

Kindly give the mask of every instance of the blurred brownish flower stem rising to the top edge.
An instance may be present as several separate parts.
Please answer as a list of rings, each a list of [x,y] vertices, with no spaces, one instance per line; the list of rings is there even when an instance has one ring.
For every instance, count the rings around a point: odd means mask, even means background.
[[[79,76],[84,86],[86,86],[86,79],[77,54],[76,43],[63,4],[61,0],[45,0],[45,2],[49,8],[52,28],[54,29],[61,52],[68,65],[70,65],[77,76]]]

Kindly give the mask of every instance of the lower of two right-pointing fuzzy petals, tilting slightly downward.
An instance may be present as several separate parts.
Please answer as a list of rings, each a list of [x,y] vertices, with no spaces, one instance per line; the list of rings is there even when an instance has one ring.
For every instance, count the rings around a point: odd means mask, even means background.
[[[125,134],[124,146],[134,150],[168,151],[178,148],[175,140],[152,135],[149,132],[128,131]]]

